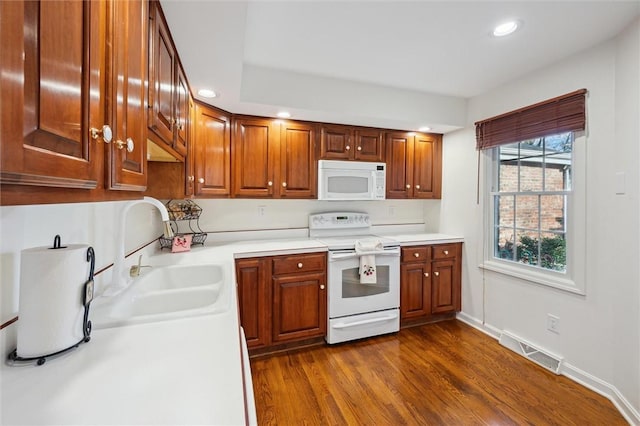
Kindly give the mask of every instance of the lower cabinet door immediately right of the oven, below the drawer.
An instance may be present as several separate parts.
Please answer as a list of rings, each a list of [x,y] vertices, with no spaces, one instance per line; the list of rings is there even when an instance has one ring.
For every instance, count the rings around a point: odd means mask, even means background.
[[[431,268],[429,262],[400,265],[400,318],[431,313]]]

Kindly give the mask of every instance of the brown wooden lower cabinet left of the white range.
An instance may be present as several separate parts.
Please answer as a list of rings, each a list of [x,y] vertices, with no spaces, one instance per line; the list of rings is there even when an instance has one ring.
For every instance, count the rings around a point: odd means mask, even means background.
[[[249,349],[326,334],[326,268],[326,253],[236,260],[240,323]]]

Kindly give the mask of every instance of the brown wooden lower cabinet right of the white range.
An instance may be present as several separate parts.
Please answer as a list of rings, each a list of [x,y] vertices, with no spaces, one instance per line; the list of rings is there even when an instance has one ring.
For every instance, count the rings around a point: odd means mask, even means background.
[[[462,243],[402,247],[401,322],[460,311],[461,284]]]

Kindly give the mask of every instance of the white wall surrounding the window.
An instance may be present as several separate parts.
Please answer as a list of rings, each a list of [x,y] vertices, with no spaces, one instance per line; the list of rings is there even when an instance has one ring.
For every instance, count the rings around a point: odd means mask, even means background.
[[[441,232],[465,236],[464,314],[563,356],[568,371],[617,390],[631,412],[640,409],[639,26],[636,21],[612,41],[470,99],[468,127],[444,137],[439,212]],[[481,187],[476,205],[473,129],[477,120],[580,88],[589,90],[587,223],[586,256],[576,267],[585,271],[586,296],[477,267],[483,258],[485,191]],[[615,193],[618,172],[626,175],[622,195]],[[560,317],[560,334],[546,330],[548,313]]]

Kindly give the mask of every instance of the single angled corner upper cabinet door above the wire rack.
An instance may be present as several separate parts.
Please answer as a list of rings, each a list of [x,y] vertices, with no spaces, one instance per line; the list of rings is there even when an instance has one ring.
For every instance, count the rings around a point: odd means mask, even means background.
[[[230,138],[229,116],[218,109],[197,103],[193,149],[196,195],[229,195]]]

